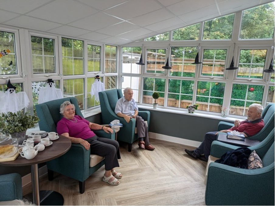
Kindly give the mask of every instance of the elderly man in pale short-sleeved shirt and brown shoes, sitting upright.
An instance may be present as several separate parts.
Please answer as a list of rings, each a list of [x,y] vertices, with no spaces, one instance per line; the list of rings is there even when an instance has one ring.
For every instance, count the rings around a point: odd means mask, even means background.
[[[144,119],[138,116],[138,107],[133,99],[133,90],[130,87],[124,89],[124,96],[117,101],[115,113],[119,117],[123,117],[126,122],[130,122],[130,118],[136,120],[137,136],[139,138],[138,146],[140,149],[154,150],[148,137],[147,125]]]

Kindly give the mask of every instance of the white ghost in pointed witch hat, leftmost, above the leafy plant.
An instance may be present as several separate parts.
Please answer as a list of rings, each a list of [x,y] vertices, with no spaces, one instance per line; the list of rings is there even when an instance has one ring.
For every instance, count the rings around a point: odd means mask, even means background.
[[[20,91],[16,93],[16,87],[11,84],[10,80],[7,86],[5,93],[0,92],[0,112],[18,112],[29,105],[30,100],[26,92]]]

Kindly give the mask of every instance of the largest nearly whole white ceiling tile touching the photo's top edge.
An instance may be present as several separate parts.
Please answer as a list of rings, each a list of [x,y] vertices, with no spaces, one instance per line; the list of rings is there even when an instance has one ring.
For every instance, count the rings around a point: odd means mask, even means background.
[[[27,15],[67,24],[98,12],[87,5],[72,0],[56,0]]]

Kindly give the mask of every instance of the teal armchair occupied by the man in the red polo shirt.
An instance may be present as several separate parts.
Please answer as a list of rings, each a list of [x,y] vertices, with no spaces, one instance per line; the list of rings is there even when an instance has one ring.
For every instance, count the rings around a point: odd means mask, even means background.
[[[275,111],[275,106],[273,103],[268,104],[266,108],[264,108],[262,116],[263,116],[263,122],[264,122],[264,127],[259,131],[256,135],[253,135],[251,137],[248,137],[248,139],[255,139],[259,141],[263,141],[263,139],[270,133],[270,131],[274,128],[274,111]],[[218,124],[218,131],[224,130],[224,129],[229,129],[234,124],[228,123],[228,122],[219,122]]]

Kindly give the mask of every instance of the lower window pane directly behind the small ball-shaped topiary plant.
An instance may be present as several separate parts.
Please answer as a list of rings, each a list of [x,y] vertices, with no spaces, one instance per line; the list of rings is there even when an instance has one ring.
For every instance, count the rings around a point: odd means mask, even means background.
[[[159,98],[156,103],[158,105],[164,105],[164,91],[165,91],[165,79],[162,78],[143,78],[143,95],[142,102],[147,104],[153,104],[152,94],[154,92],[159,93]]]

